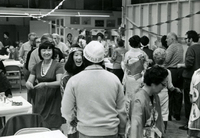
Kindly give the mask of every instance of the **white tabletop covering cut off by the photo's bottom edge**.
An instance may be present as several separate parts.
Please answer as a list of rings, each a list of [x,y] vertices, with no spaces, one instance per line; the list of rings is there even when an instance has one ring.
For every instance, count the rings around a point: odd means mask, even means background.
[[[60,130],[14,135],[1,138],[67,138]]]

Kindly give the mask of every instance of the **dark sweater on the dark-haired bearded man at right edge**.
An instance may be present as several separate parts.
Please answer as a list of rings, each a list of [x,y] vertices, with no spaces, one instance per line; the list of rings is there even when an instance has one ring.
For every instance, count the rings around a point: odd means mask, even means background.
[[[194,71],[200,68],[200,44],[188,47],[185,56],[185,66],[183,77],[191,79]]]

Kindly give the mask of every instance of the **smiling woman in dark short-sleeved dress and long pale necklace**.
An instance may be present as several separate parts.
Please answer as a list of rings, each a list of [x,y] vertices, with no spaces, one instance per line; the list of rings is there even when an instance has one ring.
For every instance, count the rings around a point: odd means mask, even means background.
[[[63,66],[56,62],[54,44],[44,42],[39,47],[39,57],[42,60],[34,66],[26,82],[27,89],[35,91],[33,113],[43,116],[45,127],[58,129],[62,124],[60,80]],[[38,84],[33,86],[35,80]]]

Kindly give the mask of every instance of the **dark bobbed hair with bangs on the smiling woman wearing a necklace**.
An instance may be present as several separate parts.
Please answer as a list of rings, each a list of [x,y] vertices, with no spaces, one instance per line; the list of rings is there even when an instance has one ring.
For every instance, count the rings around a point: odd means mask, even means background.
[[[55,45],[54,45],[54,43],[46,41],[46,42],[40,44],[38,50],[39,50],[39,57],[40,57],[41,60],[43,60],[43,57],[41,55],[41,50],[42,49],[52,49],[52,57],[51,58],[52,59],[55,58],[55,50],[54,50],[55,49]]]

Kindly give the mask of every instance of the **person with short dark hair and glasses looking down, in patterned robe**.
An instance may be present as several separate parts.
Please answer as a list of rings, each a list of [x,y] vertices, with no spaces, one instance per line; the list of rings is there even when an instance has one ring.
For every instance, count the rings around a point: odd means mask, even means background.
[[[144,86],[132,97],[130,106],[130,138],[161,138],[164,123],[158,93],[167,85],[168,72],[160,66],[147,69]]]

